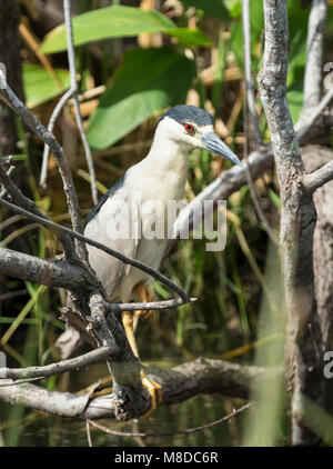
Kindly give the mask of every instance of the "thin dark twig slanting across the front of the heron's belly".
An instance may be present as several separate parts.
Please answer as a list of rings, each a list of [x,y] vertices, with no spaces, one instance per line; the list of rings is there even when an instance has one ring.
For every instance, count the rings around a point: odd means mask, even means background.
[[[101,242],[94,241],[93,239],[87,238],[85,236],[78,233],[75,231],[70,230],[69,228],[62,227],[61,224],[56,223],[54,221],[44,219],[42,217],[39,217],[34,213],[29,212],[28,210],[24,210],[20,207],[14,206],[11,202],[8,202],[7,200],[3,200],[0,198],[0,204],[2,204],[3,207],[7,207],[8,209],[12,210],[14,213],[19,213],[19,214],[23,214],[24,217],[29,218],[30,220],[33,220],[38,223],[40,223],[41,226],[46,227],[46,228],[52,228],[59,231],[62,231],[65,234],[69,234],[71,238],[78,239],[84,243],[88,243],[90,246],[93,246],[94,248],[101,249],[102,251],[107,252],[108,255],[121,260],[124,263],[129,263],[140,270],[142,270],[143,272],[150,275],[151,277],[153,277],[154,279],[159,280],[160,282],[162,282],[165,287],[170,288],[170,290],[176,292],[182,300],[184,300],[185,302],[190,301],[190,298],[186,296],[186,293],[180,288],[178,287],[178,285],[175,285],[172,280],[168,279],[167,277],[164,277],[162,273],[157,272],[154,269],[152,269],[151,267],[147,266],[143,262],[140,262],[139,260],[135,259],[131,259],[118,251],[114,251],[111,248],[108,248],[107,246],[102,245]]]

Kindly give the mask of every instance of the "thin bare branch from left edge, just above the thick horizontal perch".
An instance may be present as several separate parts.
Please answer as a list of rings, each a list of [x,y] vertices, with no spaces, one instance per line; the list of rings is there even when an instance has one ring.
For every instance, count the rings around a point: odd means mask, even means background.
[[[114,353],[118,347],[100,347],[97,350],[81,355],[80,357],[62,360],[58,363],[46,365],[44,367],[29,368],[0,368],[1,379],[27,379],[27,378],[48,378],[53,375],[63,373],[65,371],[78,370],[82,367],[95,363],[110,355]],[[1,385],[1,381],[0,381]]]

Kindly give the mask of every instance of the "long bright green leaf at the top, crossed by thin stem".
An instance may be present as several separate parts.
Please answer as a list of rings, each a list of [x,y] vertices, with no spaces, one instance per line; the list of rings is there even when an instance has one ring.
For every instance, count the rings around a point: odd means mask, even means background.
[[[73,18],[74,44],[108,38],[137,36],[141,32],[162,32],[175,24],[159,11],[144,11],[134,7],[112,6],[78,14]],[[47,34],[41,51],[60,52],[67,49],[65,26],[60,24]]]

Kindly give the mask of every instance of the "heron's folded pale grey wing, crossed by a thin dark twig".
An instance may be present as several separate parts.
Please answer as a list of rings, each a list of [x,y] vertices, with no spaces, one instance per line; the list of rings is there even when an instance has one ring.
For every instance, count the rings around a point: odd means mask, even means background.
[[[140,217],[130,217],[131,192],[122,177],[99,201],[88,216],[84,234],[124,256],[135,258],[138,249]],[[129,216],[129,217],[128,217]],[[131,266],[98,248],[87,245],[89,262],[102,283],[109,300],[114,300],[114,290]]]

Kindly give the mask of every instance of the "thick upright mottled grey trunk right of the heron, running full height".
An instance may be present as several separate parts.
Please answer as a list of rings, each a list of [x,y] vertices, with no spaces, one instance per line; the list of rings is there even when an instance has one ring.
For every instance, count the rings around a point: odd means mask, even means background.
[[[282,217],[281,245],[289,311],[287,353],[292,383],[294,445],[316,441],[304,422],[304,396],[323,400],[322,337],[313,283],[315,208],[304,192],[306,174],[286,101],[289,24],[286,1],[264,0],[265,51],[259,89],[271,132]]]

